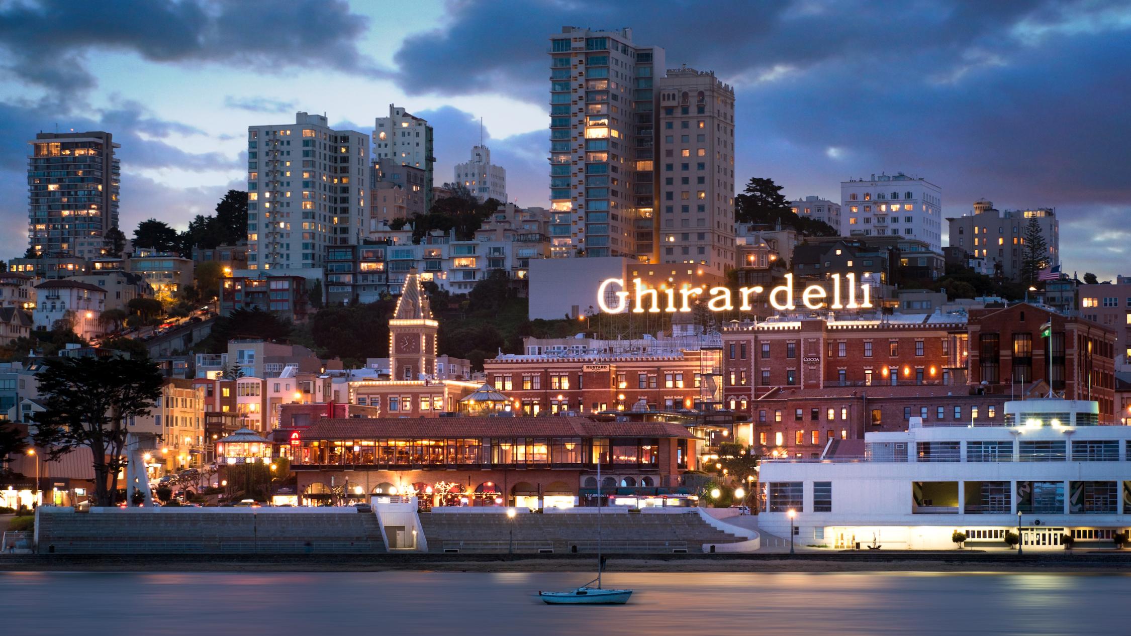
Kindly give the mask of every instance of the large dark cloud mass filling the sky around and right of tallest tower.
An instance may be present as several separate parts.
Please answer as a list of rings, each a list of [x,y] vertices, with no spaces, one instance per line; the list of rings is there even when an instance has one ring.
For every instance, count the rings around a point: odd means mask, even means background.
[[[1113,278],[1121,262],[1111,255],[1131,218],[1131,2],[448,7],[441,28],[407,37],[395,56],[406,92],[546,104],[546,49],[561,25],[629,26],[637,43],[666,49],[667,68],[714,70],[735,86],[737,190],[769,176],[788,195],[836,198],[848,177],[903,171],[942,188],[944,216],[981,197],[999,209],[1055,207],[1067,269]],[[539,153],[526,169],[544,189],[549,138],[530,134]]]

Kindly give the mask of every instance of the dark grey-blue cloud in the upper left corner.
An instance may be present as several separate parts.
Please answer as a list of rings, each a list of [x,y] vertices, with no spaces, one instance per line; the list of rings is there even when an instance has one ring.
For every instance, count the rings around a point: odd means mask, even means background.
[[[85,55],[126,51],[150,62],[217,62],[378,71],[356,42],[368,19],[344,0],[40,0],[0,9],[5,69],[52,94],[93,88]]]

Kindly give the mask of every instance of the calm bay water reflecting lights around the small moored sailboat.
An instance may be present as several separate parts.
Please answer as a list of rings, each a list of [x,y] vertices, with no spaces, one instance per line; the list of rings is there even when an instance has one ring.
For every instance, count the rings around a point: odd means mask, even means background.
[[[0,573],[6,634],[1131,634],[1131,576],[608,574],[622,607],[533,593],[582,574]]]

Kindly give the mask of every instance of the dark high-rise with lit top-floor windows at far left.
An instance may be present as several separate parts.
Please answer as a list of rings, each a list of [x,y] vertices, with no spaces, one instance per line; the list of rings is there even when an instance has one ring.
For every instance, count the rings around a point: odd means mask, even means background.
[[[28,247],[36,255],[102,254],[118,227],[121,163],[105,131],[40,132],[28,140]]]

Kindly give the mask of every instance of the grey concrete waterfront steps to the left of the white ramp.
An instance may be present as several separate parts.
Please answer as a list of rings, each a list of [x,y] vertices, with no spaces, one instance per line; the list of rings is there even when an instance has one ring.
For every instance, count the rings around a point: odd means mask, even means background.
[[[44,508],[41,508],[43,511]],[[61,508],[69,511],[70,508]],[[377,516],[351,513],[49,512],[38,551],[57,554],[386,552]]]

